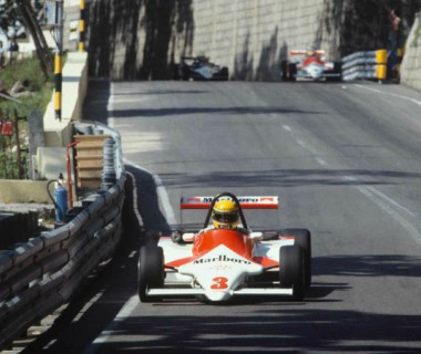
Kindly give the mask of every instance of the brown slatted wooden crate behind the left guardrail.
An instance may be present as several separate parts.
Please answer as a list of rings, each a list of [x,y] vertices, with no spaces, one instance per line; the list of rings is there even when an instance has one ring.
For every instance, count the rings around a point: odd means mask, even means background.
[[[78,187],[101,188],[104,142],[110,135],[75,135]]]

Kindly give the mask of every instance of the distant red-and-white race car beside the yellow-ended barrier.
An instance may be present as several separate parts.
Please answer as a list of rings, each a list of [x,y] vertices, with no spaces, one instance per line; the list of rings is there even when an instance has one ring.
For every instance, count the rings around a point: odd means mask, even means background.
[[[296,81],[297,79],[340,81],[341,63],[327,62],[325,51],[289,51],[290,60],[281,62],[281,79]]]

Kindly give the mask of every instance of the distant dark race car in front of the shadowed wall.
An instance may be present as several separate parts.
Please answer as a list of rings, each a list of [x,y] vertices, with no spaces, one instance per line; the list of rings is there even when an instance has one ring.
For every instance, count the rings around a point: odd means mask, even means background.
[[[204,55],[182,56],[181,63],[175,65],[174,76],[185,81],[228,81],[228,67],[216,65]]]

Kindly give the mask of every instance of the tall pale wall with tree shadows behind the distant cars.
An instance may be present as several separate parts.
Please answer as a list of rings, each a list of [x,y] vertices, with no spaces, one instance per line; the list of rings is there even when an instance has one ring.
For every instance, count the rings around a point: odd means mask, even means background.
[[[181,55],[206,54],[232,79],[278,80],[289,49],[322,48],[337,59],[332,0],[94,0],[90,72],[112,79],[170,79]]]

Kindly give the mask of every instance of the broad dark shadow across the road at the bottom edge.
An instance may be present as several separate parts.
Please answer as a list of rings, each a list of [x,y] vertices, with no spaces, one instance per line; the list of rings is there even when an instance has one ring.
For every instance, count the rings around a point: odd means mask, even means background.
[[[291,309],[238,315],[131,319],[99,353],[419,353],[420,315]],[[136,335],[142,340],[136,340]],[[132,341],[119,341],[119,336]]]

